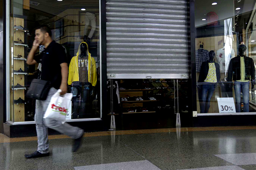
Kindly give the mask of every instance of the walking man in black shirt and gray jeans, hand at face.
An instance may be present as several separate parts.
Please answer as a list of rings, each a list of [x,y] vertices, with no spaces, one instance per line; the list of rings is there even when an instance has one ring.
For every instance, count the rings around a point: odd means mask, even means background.
[[[49,156],[48,127],[74,139],[72,152],[76,152],[81,145],[84,130],[78,127],[62,124],[60,121],[44,118],[44,113],[50,103],[52,95],[57,89],[62,90],[61,95],[67,92],[68,64],[64,48],[55,41],[52,41],[51,30],[48,26],[42,25],[36,28],[35,40],[28,57],[27,64],[42,64],[41,79],[51,82],[52,88],[48,92],[46,100],[36,100],[35,122],[38,148],[32,154],[26,154],[26,158],[39,158]],[[44,51],[35,56],[40,45],[44,45]]]

